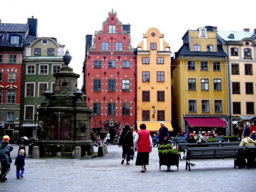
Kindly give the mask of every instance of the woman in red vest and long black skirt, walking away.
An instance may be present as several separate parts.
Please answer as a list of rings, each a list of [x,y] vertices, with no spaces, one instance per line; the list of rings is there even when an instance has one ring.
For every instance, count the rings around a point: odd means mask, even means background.
[[[135,165],[142,167],[141,172],[145,173],[146,165],[149,165],[149,153],[152,151],[152,139],[147,127],[144,123],[140,124],[140,131],[134,139],[134,149],[137,151],[137,158]]]

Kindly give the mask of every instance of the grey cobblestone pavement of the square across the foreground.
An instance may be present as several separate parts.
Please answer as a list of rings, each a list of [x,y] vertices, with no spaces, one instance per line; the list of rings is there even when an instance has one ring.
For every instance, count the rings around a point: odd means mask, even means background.
[[[13,145],[11,157],[18,153]],[[27,147],[27,146],[26,146]],[[94,149],[97,151],[98,147]],[[191,172],[185,169],[185,160],[176,166],[162,166],[159,171],[157,148],[149,156],[147,171],[141,166],[121,165],[121,147],[108,146],[105,157],[93,159],[41,158],[25,159],[23,179],[16,179],[16,166],[11,170],[0,191],[252,191],[255,188],[256,168],[233,168],[233,159],[193,160]],[[26,148],[26,152],[28,149]]]

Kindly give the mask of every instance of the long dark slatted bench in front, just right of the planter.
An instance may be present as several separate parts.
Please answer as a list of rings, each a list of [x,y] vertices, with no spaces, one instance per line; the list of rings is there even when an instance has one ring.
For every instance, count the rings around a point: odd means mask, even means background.
[[[243,146],[222,146],[222,147],[188,147],[186,156],[186,169],[191,171],[191,159],[225,159],[233,158],[234,167],[236,167],[236,158],[240,167],[240,157],[238,156],[244,150]]]

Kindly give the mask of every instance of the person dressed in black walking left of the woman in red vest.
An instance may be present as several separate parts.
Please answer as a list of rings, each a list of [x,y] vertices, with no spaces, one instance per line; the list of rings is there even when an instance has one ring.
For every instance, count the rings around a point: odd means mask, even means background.
[[[130,125],[125,125],[125,130],[122,131],[119,145],[122,146],[122,161],[121,164],[125,162],[126,159],[126,165],[130,165],[130,154],[131,150],[133,150],[133,134],[130,131]]]

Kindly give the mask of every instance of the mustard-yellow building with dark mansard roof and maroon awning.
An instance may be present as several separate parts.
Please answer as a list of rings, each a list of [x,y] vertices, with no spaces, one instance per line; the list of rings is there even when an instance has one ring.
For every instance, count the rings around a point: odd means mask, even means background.
[[[188,30],[174,54],[172,124],[177,131],[227,134],[225,53],[214,27]]]

